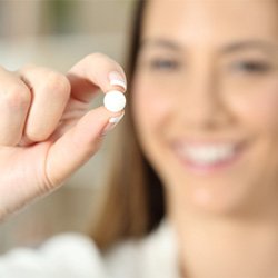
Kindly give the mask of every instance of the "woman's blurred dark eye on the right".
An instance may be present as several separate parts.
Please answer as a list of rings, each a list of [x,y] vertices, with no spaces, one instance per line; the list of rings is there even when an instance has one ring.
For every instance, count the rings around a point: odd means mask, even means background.
[[[271,67],[268,62],[254,60],[239,61],[231,66],[231,70],[234,71],[255,75],[266,73],[270,68]]]

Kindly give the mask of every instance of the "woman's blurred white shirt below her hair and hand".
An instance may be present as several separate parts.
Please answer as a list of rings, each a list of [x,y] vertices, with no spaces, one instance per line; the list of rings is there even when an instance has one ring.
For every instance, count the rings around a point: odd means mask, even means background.
[[[2,278],[178,278],[177,246],[167,221],[141,240],[127,240],[101,256],[83,235],[56,236],[39,249],[0,257]]]

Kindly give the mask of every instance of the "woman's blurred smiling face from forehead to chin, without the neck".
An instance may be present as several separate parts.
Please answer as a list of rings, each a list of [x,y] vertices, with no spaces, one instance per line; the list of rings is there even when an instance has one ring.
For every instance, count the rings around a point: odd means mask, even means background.
[[[275,0],[148,2],[133,116],[170,205],[277,202],[277,11]]]

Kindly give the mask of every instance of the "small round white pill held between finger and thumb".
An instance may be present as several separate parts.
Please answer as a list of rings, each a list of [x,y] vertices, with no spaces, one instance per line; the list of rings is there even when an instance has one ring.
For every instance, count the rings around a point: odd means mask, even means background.
[[[126,106],[126,97],[120,91],[109,91],[103,98],[103,105],[111,112],[119,112]]]

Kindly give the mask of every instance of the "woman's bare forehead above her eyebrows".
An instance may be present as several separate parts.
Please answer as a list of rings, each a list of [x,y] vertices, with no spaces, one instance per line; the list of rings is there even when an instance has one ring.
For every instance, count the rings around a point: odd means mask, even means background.
[[[186,42],[246,37],[269,40],[278,34],[278,1],[151,0],[146,7],[142,34]]]

